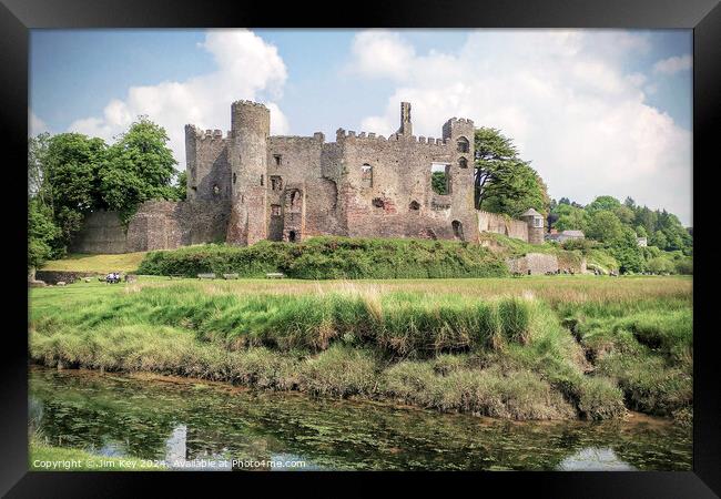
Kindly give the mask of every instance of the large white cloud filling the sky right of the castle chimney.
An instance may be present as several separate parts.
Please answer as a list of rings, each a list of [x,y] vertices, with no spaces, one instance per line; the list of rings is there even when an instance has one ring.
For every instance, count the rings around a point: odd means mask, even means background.
[[[413,104],[417,135],[439,136],[441,121],[470,118],[514,138],[551,196],[588,203],[601,194],[630,195],[690,221],[691,133],[646,102],[644,91],[653,88],[646,75],[623,70],[629,55],[648,52],[646,35],[483,30],[454,53],[424,55],[400,35],[376,33],[359,33],[356,44],[383,47],[377,71],[367,50],[358,60],[354,49],[352,65],[389,78],[396,90],[384,112],[363,120],[363,130],[393,133],[400,101]]]

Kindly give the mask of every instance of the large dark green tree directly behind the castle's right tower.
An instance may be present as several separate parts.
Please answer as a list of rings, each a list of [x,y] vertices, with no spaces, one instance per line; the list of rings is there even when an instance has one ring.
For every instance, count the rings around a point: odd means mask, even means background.
[[[548,212],[546,185],[499,130],[476,129],[475,202],[478,208],[518,216],[529,207]]]

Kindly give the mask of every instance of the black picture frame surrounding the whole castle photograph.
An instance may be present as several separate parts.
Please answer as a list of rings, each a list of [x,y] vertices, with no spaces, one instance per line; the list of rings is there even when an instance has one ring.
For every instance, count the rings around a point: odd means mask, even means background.
[[[28,472],[27,403],[28,355],[27,275],[20,264],[27,258],[27,182],[21,166],[28,138],[29,30],[43,28],[681,28],[693,30],[693,213],[695,268],[694,293],[694,424],[693,471],[688,472],[512,472],[512,473],[63,473]],[[721,129],[721,7],[719,0],[416,0],[380,2],[268,2],[241,3],[231,0],[1,0],[0,3],[0,121],[4,147],[3,196],[6,235],[2,370],[2,425],[0,441],[6,456],[0,467],[0,493],[8,497],[113,497],[150,490],[149,480],[162,481],[163,495],[171,488],[190,491],[201,486],[206,492],[212,480],[233,480],[241,493],[246,485],[262,480],[265,487],[285,481],[307,485],[315,491],[341,493],[337,479],[354,479],[374,489],[379,478],[399,478],[417,488],[439,479],[455,483],[444,492],[518,492],[541,497],[653,497],[701,498],[721,495],[719,445],[719,360],[713,348],[717,328],[711,316],[714,299],[712,205]],[[717,222],[718,223],[718,222]],[[700,227],[700,228],[699,228]],[[11,263],[16,262],[16,263]],[[17,288],[14,287],[17,286]],[[10,289],[12,287],[12,291]],[[718,296],[718,294],[717,294]],[[717,298],[718,299],[718,298]],[[703,334],[701,334],[703,332]],[[268,477],[268,475],[273,475]],[[212,477],[212,478],[211,478]],[[237,483],[237,482],[241,483]],[[229,483],[230,485],[230,483]],[[331,486],[331,487],[327,487]],[[231,489],[233,490],[233,489]],[[270,489],[266,489],[267,493]],[[360,488],[357,489],[358,491]],[[158,493],[158,492],[155,492]],[[219,493],[219,492],[211,492]]]

